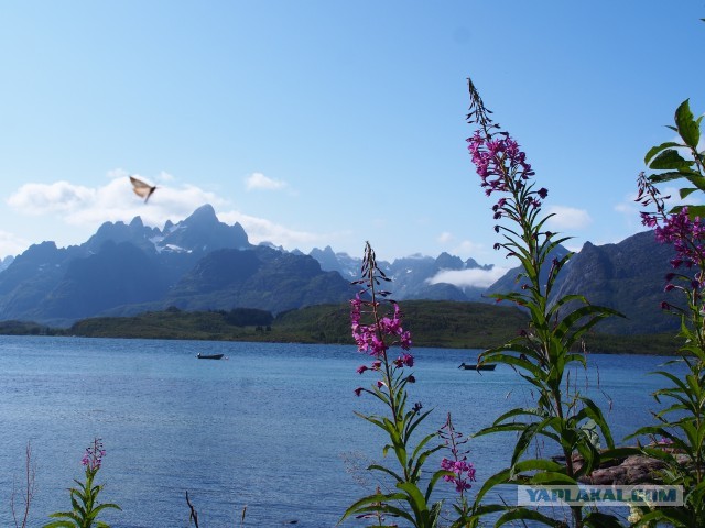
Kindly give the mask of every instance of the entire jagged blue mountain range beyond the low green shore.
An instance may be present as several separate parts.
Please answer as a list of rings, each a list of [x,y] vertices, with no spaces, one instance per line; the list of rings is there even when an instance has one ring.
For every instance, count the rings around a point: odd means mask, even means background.
[[[558,246],[556,256],[567,250]],[[627,317],[604,321],[609,333],[653,333],[677,328],[660,304],[677,304],[664,293],[673,250],[652,232],[618,244],[586,243],[560,276],[556,295],[581,293]],[[397,300],[489,301],[492,293],[521,287],[519,270],[492,284],[451,284],[463,274],[491,276],[492,266],[442,253],[380,262],[392,278]],[[327,246],[310,254],[271,244],[253,245],[239,223],[220,222],[212,206],[177,223],[150,228],[106,222],[85,243],[32,245],[0,263],[0,320],[67,327],[96,316],[132,316],[176,307],[182,310],[259,308],[273,314],[317,304],[338,304],[355,295],[361,260]],[[494,271],[496,272],[496,271]],[[465,284],[464,286],[462,284]]]

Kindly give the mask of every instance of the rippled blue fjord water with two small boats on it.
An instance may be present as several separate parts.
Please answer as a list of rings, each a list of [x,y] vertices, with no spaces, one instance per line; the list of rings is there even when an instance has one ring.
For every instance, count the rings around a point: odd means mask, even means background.
[[[198,352],[228,359],[197,360]],[[471,433],[506,409],[532,406],[527,384],[505,365],[458,370],[477,353],[414,350],[411,403],[435,409],[426,431],[448,411]],[[662,381],[648,373],[665,360],[592,354],[589,376],[572,380],[608,413],[619,441],[650,422],[650,393]],[[22,507],[28,441],[33,527],[69,507],[67,487],[98,437],[107,450],[100,498],[122,507],[105,515],[116,527],[189,526],[186,492],[206,528],[240,526],[245,506],[246,527],[332,527],[377,485],[360,468],[381,461],[383,438],[354,415],[379,409],[354,395],[375,380],[355,372],[362,363],[346,345],[0,337],[0,526],[14,526],[13,486]],[[512,440],[471,440],[476,488],[506,466]],[[453,498],[449,485],[438,487]]]

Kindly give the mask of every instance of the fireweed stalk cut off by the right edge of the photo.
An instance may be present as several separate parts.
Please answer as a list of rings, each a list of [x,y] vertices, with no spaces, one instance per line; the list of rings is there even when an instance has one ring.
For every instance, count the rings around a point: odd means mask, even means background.
[[[676,527],[705,526],[705,206],[679,204],[666,209],[658,186],[677,179],[686,182],[680,189],[684,200],[694,193],[705,191],[705,152],[699,151],[702,117],[695,119],[687,100],[675,111],[674,125],[680,141],[652,147],[644,157],[655,170],[638,177],[637,201],[647,208],[642,223],[654,228],[657,241],[672,244],[673,272],[665,277],[665,290],[680,293],[679,302],[662,302],[662,308],[681,319],[677,334],[682,358],[670,363],[685,364],[685,375],[679,377],[659,371],[668,386],[654,393],[657,402],[669,402],[655,414],[657,424],[634,432],[664,439],[644,447],[646,454],[660,459],[666,470],[666,484],[684,487],[683,507],[648,512],[641,522],[665,521]]]

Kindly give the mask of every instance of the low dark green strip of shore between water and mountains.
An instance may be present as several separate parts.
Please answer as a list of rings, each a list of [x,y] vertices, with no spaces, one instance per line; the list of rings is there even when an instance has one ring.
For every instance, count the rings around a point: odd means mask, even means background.
[[[514,307],[486,302],[405,300],[403,310],[406,326],[413,331],[414,346],[423,348],[489,349],[514,338],[529,321]],[[269,311],[247,308],[184,311],[170,307],[130,317],[83,319],[69,328],[0,321],[0,334],[351,345],[349,324],[347,302],[310,306],[275,317]],[[588,353],[676,355],[674,334],[616,336],[592,331],[583,343]]]

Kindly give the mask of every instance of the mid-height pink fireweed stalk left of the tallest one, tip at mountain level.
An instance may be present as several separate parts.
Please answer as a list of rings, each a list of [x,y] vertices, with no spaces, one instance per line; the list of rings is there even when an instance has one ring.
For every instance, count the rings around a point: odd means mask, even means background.
[[[432,502],[435,484],[443,477],[449,482],[463,479],[465,483],[468,470],[442,465],[430,475],[422,472],[429,457],[443,449],[444,443],[433,442],[438,439],[438,431],[426,435],[415,446],[412,443],[413,433],[431,411],[423,411],[421,404],[409,405],[406,388],[415,383],[413,373],[409,372],[414,365],[410,353],[411,333],[402,327],[399,304],[389,298],[390,292],[381,288],[382,283],[389,280],[377,265],[375,251],[369,242],[366,243],[361,278],[354,283],[361,285],[362,289],[350,301],[350,324],[358,351],[368,359],[357,372],[373,373],[378,377],[371,386],[356,388],[355,394],[373,396],[387,414],[356,415],[384,431],[389,443],[382,454],[387,457],[391,452],[393,463],[373,464],[368,469],[391,479],[392,486],[387,493],[378,487],[372,495],[357,501],[340,520],[355,516],[370,519],[375,522],[371,526],[397,526],[384,524],[388,517],[393,517],[415,528],[432,528],[437,526],[442,508],[442,502]],[[462,488],[466,491],[467,486],[463,484]]]

